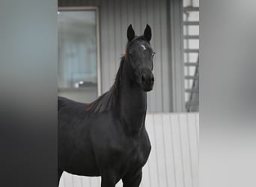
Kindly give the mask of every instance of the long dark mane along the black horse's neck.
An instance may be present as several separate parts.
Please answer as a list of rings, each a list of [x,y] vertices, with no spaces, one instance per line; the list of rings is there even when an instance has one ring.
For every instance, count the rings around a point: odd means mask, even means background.
[[[114,85],[112,85],[112,88],[110,88],[109,91],[107,91],[106,93],[103,93],[103,95],[98,97],[94,102],[88,104],[88,108],[86,109],[86,111],[99,113],[103,111],[108,111],[116,105],[119,96],[124,60],[125,57],[122,57],[118,73],[115,77],[115,82]]]

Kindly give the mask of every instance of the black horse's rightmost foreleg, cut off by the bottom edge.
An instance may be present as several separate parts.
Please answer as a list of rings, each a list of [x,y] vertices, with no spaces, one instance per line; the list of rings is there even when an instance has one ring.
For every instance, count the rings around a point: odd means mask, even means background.
[[[124,187],[138,187],[139,184],[141,183],[141,178],[142,178],[142,171],[141,169],[136,171],[133,174],[127,174],[124,176],[123,180],[123,186]]]

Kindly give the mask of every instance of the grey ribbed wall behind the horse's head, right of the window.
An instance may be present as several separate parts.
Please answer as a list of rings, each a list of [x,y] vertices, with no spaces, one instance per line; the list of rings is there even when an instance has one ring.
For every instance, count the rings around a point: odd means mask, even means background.
[[[143,33],[146,24],[151,26],[151,45],[156,52],[153,70],[156,82],[153,91],[148,93],[148,111],[171,111],[167,5],[166,0],[58,0],[58,7],[99,7],[103,92],[114,82],[127,43],[127,26],[132,24],[138,35]]]

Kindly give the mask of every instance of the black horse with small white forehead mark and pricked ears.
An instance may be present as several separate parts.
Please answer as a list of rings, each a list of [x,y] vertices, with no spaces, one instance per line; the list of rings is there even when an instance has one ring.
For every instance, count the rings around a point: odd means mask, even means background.
[[[140,37],[127,29],[127,49],[115,84],[90,104],[58,97],[58,183],[63,171],[101,176],[102,187],[141,183],[150,154],[145,129],[147,91],[153,88],[149,25]]]

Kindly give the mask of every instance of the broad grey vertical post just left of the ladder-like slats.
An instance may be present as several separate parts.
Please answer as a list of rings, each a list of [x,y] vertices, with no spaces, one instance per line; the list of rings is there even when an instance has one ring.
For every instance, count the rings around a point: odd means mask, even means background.
[[[186,111],[183,64],[183,0],[168,1],[170,4],[172,111],[183,112]]]

